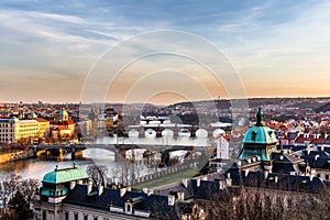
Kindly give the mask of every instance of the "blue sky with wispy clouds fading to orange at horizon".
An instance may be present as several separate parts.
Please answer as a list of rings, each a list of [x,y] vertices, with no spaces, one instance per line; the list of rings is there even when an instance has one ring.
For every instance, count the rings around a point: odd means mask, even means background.
[[[0,102],[328,97],[329,69],[326,0],[0,2]]]

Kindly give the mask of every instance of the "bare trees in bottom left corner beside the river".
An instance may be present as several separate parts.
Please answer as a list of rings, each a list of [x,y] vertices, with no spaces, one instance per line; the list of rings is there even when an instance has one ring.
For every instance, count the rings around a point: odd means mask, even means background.
[[[0,219],[33,219],[32,200],[40,186],[37,179],[22,179],[10,174],[0,182]]]

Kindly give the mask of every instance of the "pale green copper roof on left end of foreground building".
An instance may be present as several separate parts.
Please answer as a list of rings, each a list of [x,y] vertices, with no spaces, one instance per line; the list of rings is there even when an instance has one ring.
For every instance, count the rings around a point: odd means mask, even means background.
[[[58,169],[56,167],[54,172],[50,172],[44,176],[43,183],[62,184],[86,178],[89,178],[89,176],[84,169],[77,167]]]

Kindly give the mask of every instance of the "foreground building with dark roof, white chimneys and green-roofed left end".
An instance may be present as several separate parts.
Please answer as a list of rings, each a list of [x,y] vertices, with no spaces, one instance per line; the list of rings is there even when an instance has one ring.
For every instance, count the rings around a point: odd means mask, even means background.
[[[130,187],[95,187],[76,166],[47,173],[35,197],[35,219],[116,220],[178,219],[174,195],[132,191]]]

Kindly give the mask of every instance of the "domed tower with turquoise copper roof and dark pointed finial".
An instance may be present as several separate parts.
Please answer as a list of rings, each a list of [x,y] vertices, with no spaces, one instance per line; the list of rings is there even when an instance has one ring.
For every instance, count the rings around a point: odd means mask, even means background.
[[[261,108],[256,113],[256,123],[248,130],[243,140],[243,148],[239,158],[249,158],[252,156],[260,156],[261,161],[270,162],[273,152],[276,152],[278,143],[275,133],[272,129],[265,125],[264,113]]]

